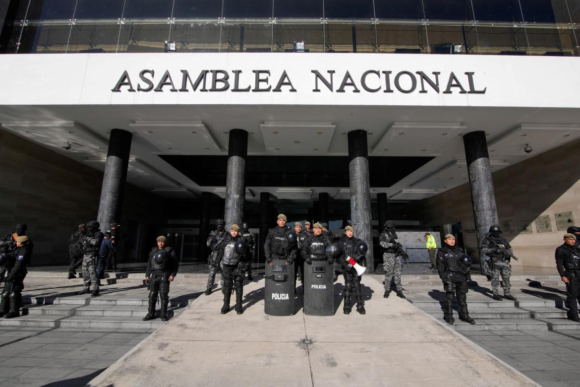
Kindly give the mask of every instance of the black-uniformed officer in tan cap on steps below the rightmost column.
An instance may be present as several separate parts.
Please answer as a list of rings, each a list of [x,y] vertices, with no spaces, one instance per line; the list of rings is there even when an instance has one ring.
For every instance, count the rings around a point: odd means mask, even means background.
[[[455,323],[453,318],[453,296],[459,304],[459,320],[469,324],[475,324],[475,320],[469,317],[467,310],[467,279],[469,278],[469,266],[471,258],[465,254],[459,246],[455,245],[455,237],[452,234],[445,235],[443,247],[437,251],[437,272],[443,281],[445,290],[445,309],[443,319],[447,324]],[[469,263],[469,264],[467,264]]]

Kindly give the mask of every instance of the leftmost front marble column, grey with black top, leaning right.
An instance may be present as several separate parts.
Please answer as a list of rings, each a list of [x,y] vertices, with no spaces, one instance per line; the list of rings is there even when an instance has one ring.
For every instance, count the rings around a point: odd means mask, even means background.
[[[131,132],[111,130],[97,215],[103,232],[110,228],[111,223],[121,223],[132,137]]]

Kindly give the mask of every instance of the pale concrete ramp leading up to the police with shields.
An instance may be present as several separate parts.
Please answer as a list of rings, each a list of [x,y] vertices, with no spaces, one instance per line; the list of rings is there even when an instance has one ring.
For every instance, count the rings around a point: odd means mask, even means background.
[[[363,277],[365,308],[335,316],[264,314],[264,280],[244,287],[244,314],[200,296],[90,386],[531,386],[530,379],[411,303]],[[234,297],[232,297],[234,298]],[[300,298],[298,298],[300,300]]]

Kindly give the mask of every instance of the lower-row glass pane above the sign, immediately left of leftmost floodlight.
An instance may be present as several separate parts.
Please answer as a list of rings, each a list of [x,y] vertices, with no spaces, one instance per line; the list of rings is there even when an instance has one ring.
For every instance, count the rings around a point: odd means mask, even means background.
[[[133,24],[121,26],[118,52],[164,52],[169,39],[169,24]]]

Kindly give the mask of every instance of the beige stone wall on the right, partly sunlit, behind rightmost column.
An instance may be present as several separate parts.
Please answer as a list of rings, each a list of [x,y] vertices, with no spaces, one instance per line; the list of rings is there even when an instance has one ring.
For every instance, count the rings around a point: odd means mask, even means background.
[[[575,141],[492,174],[499,222],[520,258],[512,265],[555,267],[554,249],[562,244],[565,230],[557,231],[554,216],[572,211],[580,226],[579,165],[580,141]],[[421,207],[422,224],[461,222],[465,246],[477,249],[469,183],[422,200]],[[551,232],[537,232],[535,219],[542,215],[549,216]],[[530,224],[531,233],[523,232]]]

